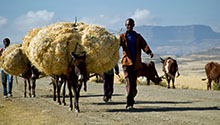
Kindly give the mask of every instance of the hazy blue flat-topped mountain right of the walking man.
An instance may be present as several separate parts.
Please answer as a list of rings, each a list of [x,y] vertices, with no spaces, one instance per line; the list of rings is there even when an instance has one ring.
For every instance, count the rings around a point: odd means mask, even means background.
[[[220,46],[220,33],[206,25],[137,26],[154,53],[184,55]]]

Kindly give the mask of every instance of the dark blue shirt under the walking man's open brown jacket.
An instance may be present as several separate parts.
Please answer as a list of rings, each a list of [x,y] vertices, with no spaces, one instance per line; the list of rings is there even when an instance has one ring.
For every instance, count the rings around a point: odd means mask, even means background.
[[[128,47],[131,53],[131,60],[133,62],[133,65],[135,64],[136,60],[136,34],[135,32],[132,32],[131,34],[126,34],[127,40],[128,40]]]

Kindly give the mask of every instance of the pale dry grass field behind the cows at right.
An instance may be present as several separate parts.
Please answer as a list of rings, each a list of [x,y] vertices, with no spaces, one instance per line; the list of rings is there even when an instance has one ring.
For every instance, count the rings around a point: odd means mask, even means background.
[[[142,57],[143,62],[147,63],[151,60],[146,54],[142,54]],[[205,65],[211,61],[220,63],[220,47],[181,57],[173,55],[161,57],[172,57],[177,60],[180,76],[176,78],[176,88],[206,90],[207,80],[202,81],[202,78],[206,78]],[[152,60],[156,63],[155,65],[159,76],[164,75],[159,56],[156,55]],[[121,71],[121,76],[123,77],[123,71]],[[120,83],[118,77],[115,76],[115,78],[115,83]],[[144,81],[144,79],[139,78],[139,81]],[[166,80],[163,80],[163,82],[167,83]]]

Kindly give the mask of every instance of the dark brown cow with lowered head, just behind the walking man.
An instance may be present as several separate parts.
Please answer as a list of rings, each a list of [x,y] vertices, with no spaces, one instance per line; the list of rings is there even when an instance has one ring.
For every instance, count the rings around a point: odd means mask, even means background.
[[[155,64],[153,61],[142,63],[142,69],[138,70],[137,77],[144,76],[147,78],[147,85],[150,85],[150,80],[158,85],[162,80],[158,76]]]

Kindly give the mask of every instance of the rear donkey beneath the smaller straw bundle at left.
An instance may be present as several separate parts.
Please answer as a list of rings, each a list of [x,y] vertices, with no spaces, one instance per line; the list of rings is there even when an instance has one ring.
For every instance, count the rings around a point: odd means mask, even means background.
[[[29,96],[35,97],[35,87],[36,87],[36,80],[39,79],[41,73],[35,68],[35,66],[30,65],[27,72],[24,74],[21,74],[20,77],[24,78],[24,97],[26,97],[26,89],[27,89],[27,83],[28,83],[28,89],[29,89]],[[32,83],[32,84],[31,84]]]

